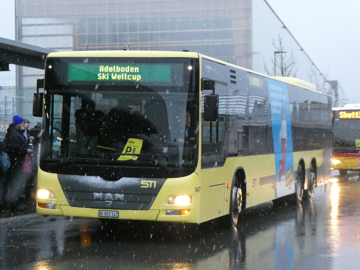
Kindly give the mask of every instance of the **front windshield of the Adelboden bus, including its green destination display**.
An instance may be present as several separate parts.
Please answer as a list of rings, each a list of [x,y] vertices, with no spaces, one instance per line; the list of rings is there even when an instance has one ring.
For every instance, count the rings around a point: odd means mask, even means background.
[[[198,155],[198,76],[190,58],[47,59],[41,169],[189,174]]]

